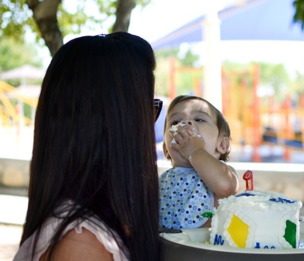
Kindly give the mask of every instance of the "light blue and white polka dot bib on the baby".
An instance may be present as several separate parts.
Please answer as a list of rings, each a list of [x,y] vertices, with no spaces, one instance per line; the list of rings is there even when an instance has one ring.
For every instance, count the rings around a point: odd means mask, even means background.
[[[197,228],[208,220],[201,214],[212,211],[213,192],[193,168],[176,167],[159,177],[160,228]]]

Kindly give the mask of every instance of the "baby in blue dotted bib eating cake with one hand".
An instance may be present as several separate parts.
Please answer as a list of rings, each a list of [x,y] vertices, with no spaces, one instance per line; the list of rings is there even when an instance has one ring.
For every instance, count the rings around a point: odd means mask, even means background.
[[[210,226],[201,214],[236,194],[236,171],[226,165],[230,129],[223,115],[197,96],[177,96],[165,121],[163,149],[173,168],[159,177],[160,228]]]

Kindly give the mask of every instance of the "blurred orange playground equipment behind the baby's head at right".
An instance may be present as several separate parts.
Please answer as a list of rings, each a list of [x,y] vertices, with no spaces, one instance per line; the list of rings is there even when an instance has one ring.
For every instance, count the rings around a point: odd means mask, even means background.
[[[177,94],[176,77],[185,71],[193,72],[192,93],[204,97],[204,87],[200,85],[197,71],[203,69],[178,68],[171,60],[169,77],[169,98]],[[261,102],[258,96],[260,68],[254,64],[251,71],[229,72],[222,68],[222,113],[229,123],[233,144],[251,145],[253,161],[260,162],[259,148],[262,144],[277,144],[284,147],[284,159],[290,160],[291,150],[304,150],[304,95],[299,101],[289,96],[283,103],[275,104],[273,97]],[[264,101],[264,100],[263,100]]]

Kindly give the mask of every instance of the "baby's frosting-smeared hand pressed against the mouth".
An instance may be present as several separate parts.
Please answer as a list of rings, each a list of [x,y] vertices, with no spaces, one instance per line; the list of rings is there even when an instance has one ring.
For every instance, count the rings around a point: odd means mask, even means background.
[[[170,146],[173,149],[178,150],[187,160],[194,150],[205,148],[205,141],[201,135],[197,134],[194,126],[180,123],[173,126],[169,130],[169,133],[173,137]]]

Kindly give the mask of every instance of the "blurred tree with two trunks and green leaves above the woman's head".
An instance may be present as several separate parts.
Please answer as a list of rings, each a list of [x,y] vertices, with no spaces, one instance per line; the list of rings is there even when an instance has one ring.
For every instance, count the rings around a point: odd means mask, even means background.
[[[67,34],[80,33],[85,26],[101,25],[116,16],[112,32],[127,32],[131,10],[136,3],[145,6],[150,0],[74,0],[76,13],[71,13],[65,0],[2,0],[0,2],[0,36],[12,36],[23,41],[26,30],[37,34],[48,47],[51,56],[63,44]],[[93,4],[99,16],[87,14],[87,5]]]

